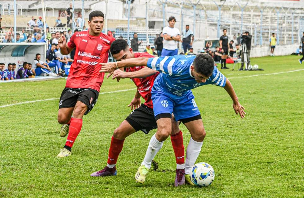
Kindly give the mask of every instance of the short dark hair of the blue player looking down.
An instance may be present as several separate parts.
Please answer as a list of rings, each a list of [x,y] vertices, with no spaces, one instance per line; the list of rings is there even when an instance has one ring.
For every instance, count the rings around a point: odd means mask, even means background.
[[[209,54],[199,54],[194,58],[193,66],[197,73],[209,76],[214,69],[214,60]]]

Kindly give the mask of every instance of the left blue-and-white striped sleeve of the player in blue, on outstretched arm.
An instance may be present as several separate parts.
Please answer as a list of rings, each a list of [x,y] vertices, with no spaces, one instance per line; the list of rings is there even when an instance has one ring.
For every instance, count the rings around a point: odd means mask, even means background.
[[[149,58],[147,67],[171,76],[173,74],[172,66],[174,65],[175,61],[176,59],[174,56]]]

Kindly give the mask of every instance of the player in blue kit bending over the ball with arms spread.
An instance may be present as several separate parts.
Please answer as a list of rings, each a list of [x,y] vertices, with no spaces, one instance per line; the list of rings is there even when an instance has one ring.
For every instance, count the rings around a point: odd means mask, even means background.
[[[152,101],[154,104],[154,116],[158,130],[152,136],[145,158],[138,168],[135,179],[143,183],[151,161],[162,148],[164,140],[171,133],[171,114],[177,121],[181,121],[191,134],[186,151],[185,180],[190,181],[190,170],[195,164],[201,151],[206,132],[199,108],[194,101],[190,89],[213,84],[223,87],[233,101],[233,109],[241,118],[245,117],[244,107],[240,105],[238,97],[228,79],[214,67],[214,60],[208,54],[176,55],[156,58],[131,58],[118,62],[101,63],[100,72],[110,72],[110,76],[116,68],[147,66],[161,72],[154,81],[152,88]]]

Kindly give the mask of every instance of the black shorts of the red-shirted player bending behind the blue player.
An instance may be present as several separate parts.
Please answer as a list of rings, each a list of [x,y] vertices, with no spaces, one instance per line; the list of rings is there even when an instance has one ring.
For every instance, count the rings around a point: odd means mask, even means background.
[[[135,129],[135,131],[142,131],[145,134],[148,134],[152,129],[157,128],[153,109],[144,104],[141,104],[139,108],[132,111],[126,118],[126,121]]]

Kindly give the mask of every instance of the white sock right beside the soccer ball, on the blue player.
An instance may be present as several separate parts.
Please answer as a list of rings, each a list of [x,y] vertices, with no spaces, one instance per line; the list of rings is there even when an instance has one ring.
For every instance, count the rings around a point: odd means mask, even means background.
[[[204,142],[204,141],[203,141]],[[203,146],[203,142],[197,142],[190,138],[187,151],[186,151],[186,161],[185,161],[185,174],[189,174],[192,166],[195,164],[197,157]]]

